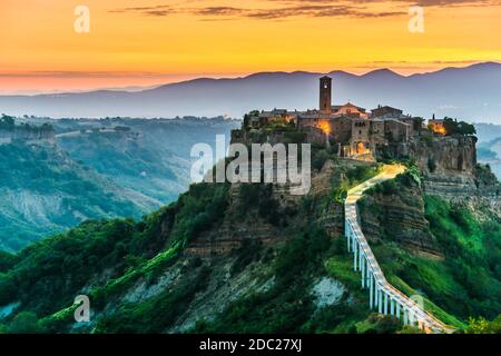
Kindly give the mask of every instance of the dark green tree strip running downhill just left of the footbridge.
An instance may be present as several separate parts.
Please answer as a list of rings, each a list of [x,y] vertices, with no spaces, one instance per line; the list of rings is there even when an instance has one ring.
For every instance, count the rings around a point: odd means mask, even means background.
[[[269,290],[238,299],[213,322],[200,320],[193,332],[310,333],[320,332],[318,328],[333,329],[343,320],[343,315],[328,319],[318,313],[310,320],[315,313],[310,287],[324,270],[323,260],[330,245],[324,231],[310,226],[281,249],[273,264],[275,283]],[[351,314],[350,308],[344,313],[347,314]]]

